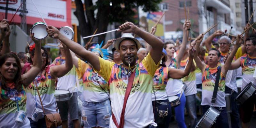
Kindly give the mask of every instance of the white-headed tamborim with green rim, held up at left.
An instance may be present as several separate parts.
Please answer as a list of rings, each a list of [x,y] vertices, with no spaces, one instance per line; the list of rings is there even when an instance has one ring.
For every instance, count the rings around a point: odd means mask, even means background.
[[[48,36],[48,33],[46,32],[46,27],[47,26],[45,23],[39,21],[33,25],[30,32],[35,33],[34,37],[36,39],[44,39],[46,36]]]

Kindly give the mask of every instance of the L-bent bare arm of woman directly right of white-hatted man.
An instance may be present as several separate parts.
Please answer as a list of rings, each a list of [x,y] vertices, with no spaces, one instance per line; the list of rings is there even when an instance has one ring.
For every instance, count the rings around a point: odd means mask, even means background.
[[[196,50],[194,49],[194,47],[193,46],[190,47],[188,64],[187,64],[185,70],[168,68],[168,78],[181,79],[185,76],[188,76],[188,74],[190,73],[192,64],[193,64],[193,58],[194,58],[195,52],[196,52]]]

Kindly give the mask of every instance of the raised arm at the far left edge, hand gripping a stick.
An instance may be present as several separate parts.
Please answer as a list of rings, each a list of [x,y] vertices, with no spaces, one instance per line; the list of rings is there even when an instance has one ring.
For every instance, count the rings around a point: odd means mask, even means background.
[[[9,20],[5,20],[5,19],[0,22],[0,30],[1,30],[0,41],[2,42],[4,40],[2,54],[11,52],[10,44],[9,44],[9,36],[11,34],[11,30],[9,28],[8,23],[9,23]]]

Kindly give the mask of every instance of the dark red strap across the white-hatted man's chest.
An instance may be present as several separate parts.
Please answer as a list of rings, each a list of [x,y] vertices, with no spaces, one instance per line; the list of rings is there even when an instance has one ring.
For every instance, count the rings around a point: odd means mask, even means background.
[[[122,113],[121,113],[121,116],[120,116],[119,125],[118,125],[118,123],[116,121],[115,115],[112,113],[112,120],[115,123],[117,128],[124,128],[124,112],[125,112],[127,100],[129,98],[129,95],[130,95],[131,90],[132,90],[132,84],[133,84],[135,72],[136,71],[132,72],[132,74],[131,74],[131,76],[129,78],[128,84],[127,84],[127,88],[126,88],[126,91],[125,91],[125,94],[124,94],[124,105],[123,105]]]

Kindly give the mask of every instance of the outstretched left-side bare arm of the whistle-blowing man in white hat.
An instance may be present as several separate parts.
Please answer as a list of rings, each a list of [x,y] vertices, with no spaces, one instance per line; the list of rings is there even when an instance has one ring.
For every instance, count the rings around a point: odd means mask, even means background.
[[[63,44],[65,44],[71,51],[81,56],[85,60],[87,60],[90,64],[92,64],[93,68],[96,70],[100,70],[100,60],[98,56],[90,51],[87,51],[80,44],[68,39],[66,36],[62,35],[59,30],[53,26],[48,26],[46,29],[50,37],[58,38]]]

